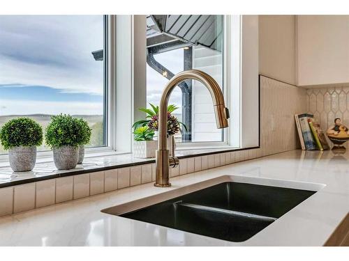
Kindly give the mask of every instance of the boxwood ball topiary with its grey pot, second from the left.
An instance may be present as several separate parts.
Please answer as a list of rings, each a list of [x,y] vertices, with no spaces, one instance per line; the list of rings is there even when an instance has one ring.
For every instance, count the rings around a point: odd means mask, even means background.
[[[59,170],[76,167],[83,136],[75,118],[66,114],[52,116],[46,128],[45,141],[53,150],[54,165]]]

